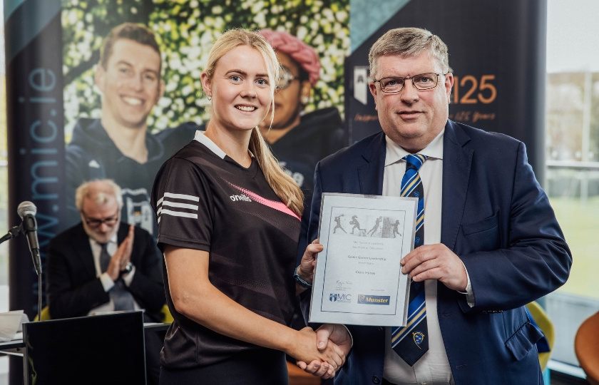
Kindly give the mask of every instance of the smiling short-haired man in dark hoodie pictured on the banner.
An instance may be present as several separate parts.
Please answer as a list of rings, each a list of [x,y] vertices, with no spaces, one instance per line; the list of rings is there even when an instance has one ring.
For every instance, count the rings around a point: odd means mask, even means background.
[[[123,188],[123,221],[156,234],[150,190],[165,151],[146,120],[164,93],[160,71],[160,48],[145,26],[121,24],[104,39],[95,78],[102,118],[79,119],[66,147],[69,225],[79,217],[77,186],[111,178]]]

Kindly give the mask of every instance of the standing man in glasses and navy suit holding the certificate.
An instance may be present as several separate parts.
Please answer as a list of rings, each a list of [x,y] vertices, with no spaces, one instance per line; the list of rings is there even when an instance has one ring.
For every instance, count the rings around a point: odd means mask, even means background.
[[[426,317],[398,351],[395,328],[349,325],[353,347],[334,383],[543,384],[542,334],[525,305],[568,279],[572,257],[524,144],[448,120],[454,78],[446,45],[429,31],[392,29],[369,63],[382,133],[317,165],[309,240],[322,193],[399,196],[407,159],[424,160],[424,245],[401,265],[412,287],[424,283]],[[323,325],[319,344],[329,337],[342,344],[349,334]],[[399,355],[419,349],[416,359]]]

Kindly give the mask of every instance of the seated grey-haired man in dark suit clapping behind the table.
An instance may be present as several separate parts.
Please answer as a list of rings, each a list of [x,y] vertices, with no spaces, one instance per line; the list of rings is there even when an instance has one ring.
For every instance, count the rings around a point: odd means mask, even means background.
[[[145,322],[162,322],[161,259],[147,231],[121,222],[121,188],[112,180],[84,183],[76,206],[81,222],[48,245],[51,318],[143,309]],[[146,333],[148,384],[158,384],[162,345],[159,334]]]

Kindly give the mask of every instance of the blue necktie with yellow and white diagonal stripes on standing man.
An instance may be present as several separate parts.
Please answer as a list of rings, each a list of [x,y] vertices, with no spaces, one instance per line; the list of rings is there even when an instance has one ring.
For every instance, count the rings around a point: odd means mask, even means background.
[[[416,236],[414,248],[424,244],[424,188],[418,169],[426,160],[425,155],[406,155],[406,173],[401,179],[401,196],[417,197]],[[429,350],[428,329],[426,327],[426,304],[424,302],[424,282],[410,283],[408,322],[406,327],[391,329],[391,347],[409,364],[414,366]]]

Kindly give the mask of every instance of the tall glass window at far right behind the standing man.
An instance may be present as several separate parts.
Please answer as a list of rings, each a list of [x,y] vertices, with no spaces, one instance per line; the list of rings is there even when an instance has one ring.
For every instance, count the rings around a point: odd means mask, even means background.
[[[598,14],[594,0],[548,1],[544,188],[573,266],[568,282],[544,304],[556,328],[551,359],[574,366],[576,331],[599,311]]]

